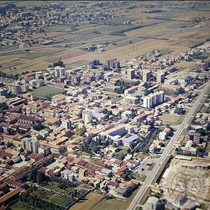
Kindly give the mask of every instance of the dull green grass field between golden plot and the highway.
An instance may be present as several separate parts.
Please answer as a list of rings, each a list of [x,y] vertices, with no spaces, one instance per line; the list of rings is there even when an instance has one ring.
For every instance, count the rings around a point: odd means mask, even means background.
[[[97,203],[91,208],[91,210],[127,210],[131,201],[134,199],[138,189],[136,189],[132,195],[127,199],[110,199],[103,200]],[[88,209],[85,209],[88,210]]]

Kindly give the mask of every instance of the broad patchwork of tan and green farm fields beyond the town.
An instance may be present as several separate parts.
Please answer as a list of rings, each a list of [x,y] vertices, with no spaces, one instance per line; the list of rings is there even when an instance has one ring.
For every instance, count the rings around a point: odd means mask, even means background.
[[[19,2],[23,5],[24,3]],[[39,2],[37,2],[39,4]],[[68,4],[74,4],[69,2]],[[33,3],[25,3],[26,7],[34,6]],[[98,58],[105,62],[107,57],[117,58],[119,61],[130,59],[138,55],[144,55],[153,49],[164,49],[163,55],[177,55],[185,52],[190,46],[203,42],[209,38],[210,21],[191,23],[190,20],[199,16],[209,14],[207,7],[195,5],[189,9],[189,4],[182,6],[168,5],[162,3],[159,6],[159,13],[145,13],[149,6],[154,7],[155,2],[148,2],[148,5],[140,2],[122,3],[120,7],[112,8],[116,17],[104,23],[89,23],[82,21],[79,24],[70,23],[45,27],[45,33],[36,36],[48,36],[57,43],[81,42],[72,44],[70,48],[46,47],[33,49],[29,52],[11,52],[0,54],[2,71],[18,73],[24,71],[43,70],[52,62],[61,58],[66,67],[75,68],[78,62],[82,65],[87,61]],[[157,5],[156,5],[157,6]],[[125,24],[125,22],[129,22]],[[98,31],[99,33],[93,33]],[[123,36],[111,35],[122,33]],[[140,36],[140,37],[138,37]],[[143,36],[143,37],[141,37]],[[164,38],[164,40],[160,40]],[[98,44],[108,41],[103,53],[84,52],[80,48],[91,44]],[[132,44],[130,44],[130,41]],[[116,43],[116,45],[112,45]],[[32,46],[33,47],[33,46]],[[14,49],[7,47],[5,50]],[[4,49],[0,49],[2,52]],[[8,56],[9,55],[9,56]],[[82,62],[81,62],[82,61]]]

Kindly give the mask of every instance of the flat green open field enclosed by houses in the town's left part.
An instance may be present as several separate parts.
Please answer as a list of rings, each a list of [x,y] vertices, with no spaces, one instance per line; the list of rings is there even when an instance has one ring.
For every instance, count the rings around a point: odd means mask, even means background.
[[[63,92],[64,89],[56,88],[52,86],[42,86],[40,88],[34,89],[32,93],[36,96],[46,97],[46,96],[54,96],[58,93]]]

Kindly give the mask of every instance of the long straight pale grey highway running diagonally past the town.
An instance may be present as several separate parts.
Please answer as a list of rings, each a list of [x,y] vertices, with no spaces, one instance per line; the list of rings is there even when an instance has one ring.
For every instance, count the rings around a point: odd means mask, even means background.
[[[192,114],[194,113],[195,109],[197,108],[198,104],[200,103],[200,101],[202,100],[204,94],[206,93],[206,91],[209,88],[210,88],[210,81],[208,81],[208,83],[206,84],[206,86],[203,89],[203,91],[201,91],[201,93],[198,96],[197,100],[195,101],[194,105],[189,110],[189,112],[186,115],[186,117],[184,118],[183,122],[181,123],[181,125],[179,126],[179,128],[175,132],[174,136],[172,137],[171,141],[167,145],[165,151],[161,155],[159,164],[155,165],[155,167],[152,170],[152,173],[147,177],[147,179],[145,180],[144,184],[141,186],[141,188],[139,189],[139,191],[136,194],[135,198],[131,202],[130,206],[128,207],[128,210],[135,210],[136,209],[136,205],[141,201],[142,197],[144,196],[144,193],[146,192],[146,190],[150,186],[152,180],[155,178],[159,168],[161,167],[161,165],[166,160],[166,157],[170,154],[170,152],[171,152],[171,150],[173,148],[173,145],[175,144],[175,142],[179,138],[180,134],[184,130],[185,126],[187,125],[187,123],[189,121],[189,119],[191,118]]]

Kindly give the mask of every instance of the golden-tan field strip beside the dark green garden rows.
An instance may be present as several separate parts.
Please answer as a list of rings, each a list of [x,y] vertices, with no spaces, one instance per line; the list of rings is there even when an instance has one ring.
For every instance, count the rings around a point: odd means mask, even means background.
[[[75,205],[73,205],[71,207],[71,210],[91,209],[102,198],[103,198],[103,195],[91,192],[88,195],[86,195],[83,199],[81,199],[79,202],[77,202]]]

